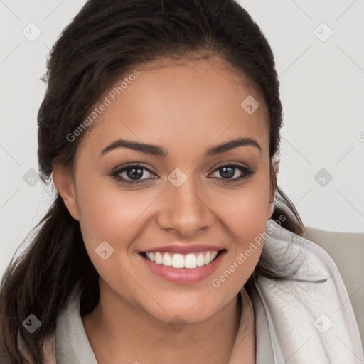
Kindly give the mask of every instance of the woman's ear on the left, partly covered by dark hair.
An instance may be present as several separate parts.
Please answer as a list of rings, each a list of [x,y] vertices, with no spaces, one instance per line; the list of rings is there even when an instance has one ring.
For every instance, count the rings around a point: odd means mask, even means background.
[[[70,215],[75,220],[80,220],[80,215],[77,210],[75,183],[73,181],[72,173],[60,164],[53,164],[52,178],[53,183],[60,193],[60,196],[63,198]]]

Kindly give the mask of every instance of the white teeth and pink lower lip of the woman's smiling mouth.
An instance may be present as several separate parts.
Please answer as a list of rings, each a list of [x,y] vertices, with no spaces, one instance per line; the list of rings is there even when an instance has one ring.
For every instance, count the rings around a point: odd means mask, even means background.
[[[227,252],[205,250],[186,254],[173,252],[139,252],[146,267],[157,276],[169,282],[191,284],[212,274]]]

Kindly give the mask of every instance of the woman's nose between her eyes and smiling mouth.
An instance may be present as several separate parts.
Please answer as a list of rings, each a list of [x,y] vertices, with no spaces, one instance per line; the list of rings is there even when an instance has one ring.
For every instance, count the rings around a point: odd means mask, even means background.
[[[161,229],[191,237],[213,224],[214,214],[208,206],[206,195],[190,182],[192,179],[187,178],[179,187],[173,184],[167,187],[158,215]]]

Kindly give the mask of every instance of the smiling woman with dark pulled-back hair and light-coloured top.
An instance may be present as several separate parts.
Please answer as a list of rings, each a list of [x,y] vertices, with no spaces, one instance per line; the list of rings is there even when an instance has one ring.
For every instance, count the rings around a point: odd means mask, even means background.
[[[87,1],[47,79],[57,192],[1,282],[1,363],[363,360],[340,274],[277,187],[279,80],[244,9]]]

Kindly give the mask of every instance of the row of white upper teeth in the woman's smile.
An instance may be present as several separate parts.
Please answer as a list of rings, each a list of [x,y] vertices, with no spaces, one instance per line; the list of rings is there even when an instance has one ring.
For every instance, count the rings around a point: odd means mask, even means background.
[[[168,252],[147,252],[146,257],[155,262],[156,264],[164,265],[165,267],[173,268],[188,268],[193,269],[202,267],[203,265],[210,264],[218,255],[217,251],[198,252],[182,255],[178,253]]]

